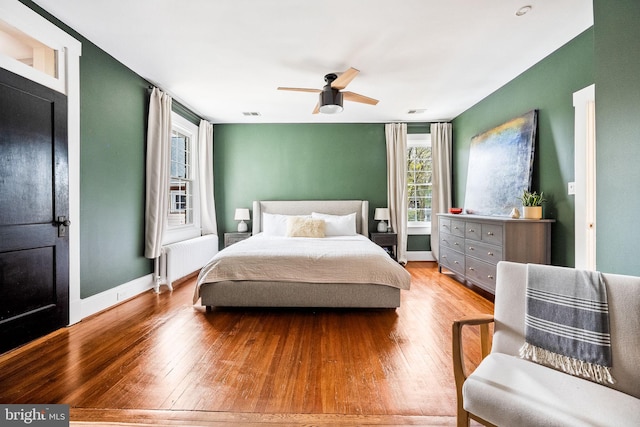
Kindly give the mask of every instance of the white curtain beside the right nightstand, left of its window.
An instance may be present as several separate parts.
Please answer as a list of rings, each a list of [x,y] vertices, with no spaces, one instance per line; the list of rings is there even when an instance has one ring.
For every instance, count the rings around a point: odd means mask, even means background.
[[[407,124],[385,125],[387,141],[387,203],[391,227],[398,235],[396,256],[407,263]]]

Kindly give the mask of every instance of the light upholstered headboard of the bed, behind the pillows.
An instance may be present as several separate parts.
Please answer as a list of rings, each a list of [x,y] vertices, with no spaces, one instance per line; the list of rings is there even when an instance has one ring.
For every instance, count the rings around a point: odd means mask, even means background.
[[[356,213],[356,230],[369,235],[369,201],[367,200],[270,200],[253,202],[253,234],[262,231],[262,213],[310,215],[312,212],[330,215]]]

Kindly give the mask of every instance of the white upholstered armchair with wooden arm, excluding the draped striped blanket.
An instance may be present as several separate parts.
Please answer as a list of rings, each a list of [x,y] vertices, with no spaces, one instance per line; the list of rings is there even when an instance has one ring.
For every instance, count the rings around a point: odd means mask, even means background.
[[[607,284],[613,385],[602,385],[521,359],[527,266],[498,264],[494,316],[453,323],[458,426],[640,425],[640,278],[603,275]],[[489,351],[488,324],[494,322]],[[483,360],[464,368],[462,329],[479,325]],[[486,357],[485,357],[486,356]]]

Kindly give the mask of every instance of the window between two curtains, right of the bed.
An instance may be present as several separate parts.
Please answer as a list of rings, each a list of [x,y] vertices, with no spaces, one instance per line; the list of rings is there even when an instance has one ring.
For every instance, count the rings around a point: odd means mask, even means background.
[[[431,233],[431,135],[407,135],[407,223],[409,234]]]

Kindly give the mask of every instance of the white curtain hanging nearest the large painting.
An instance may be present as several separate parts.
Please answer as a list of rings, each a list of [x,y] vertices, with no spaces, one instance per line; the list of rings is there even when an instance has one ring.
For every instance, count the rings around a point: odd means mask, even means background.
[[[440,259],[438,215],[451,207],[451,123],[431,124],[431,156],[433,159],[431,193],[431,253]]]

